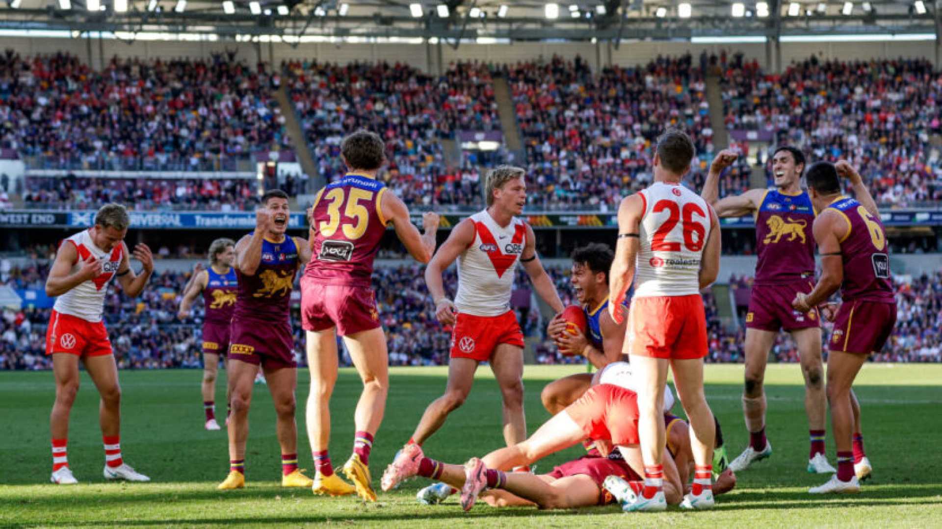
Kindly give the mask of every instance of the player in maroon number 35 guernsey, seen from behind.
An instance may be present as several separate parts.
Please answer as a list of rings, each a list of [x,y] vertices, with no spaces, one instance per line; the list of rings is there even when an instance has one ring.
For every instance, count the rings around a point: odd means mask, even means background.
[[[436,214],[426,213],[422,218],[425,232],[419,233],[406,205],[377,180],[384,150],[382,138],[371,132],[358,131],[344,138],[340,151],[349,170],[321,189],[309,210],[312,257],[301,279],[301,318],[311,370],[307,434],[317,466],[312,489],[332,496],[355,491],[373,502],[376,492],[369,453],[389,391],[386,335],[371,283],[373,258],[387,226],[392,225],[415,260],[428,263],[435,251],[439,221]],[[330,399],[337,380],[337,336],[343,337],[364,384],[354,412],[353,454],[343,468],[355,488],[333,473],[327,451]]]

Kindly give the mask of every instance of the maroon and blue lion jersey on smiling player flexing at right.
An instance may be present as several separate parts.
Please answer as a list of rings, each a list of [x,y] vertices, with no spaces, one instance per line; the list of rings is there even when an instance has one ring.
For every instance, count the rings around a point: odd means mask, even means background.
[[[815,210],[807,191],[787,195],[769,189],[755,212],[756,284],[775,284],[813,278]]]

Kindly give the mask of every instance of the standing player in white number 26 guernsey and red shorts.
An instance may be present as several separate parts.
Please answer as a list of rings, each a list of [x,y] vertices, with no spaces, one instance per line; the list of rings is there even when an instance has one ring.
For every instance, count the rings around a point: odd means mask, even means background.
[[[609,273],[609,312],[625,318],[622,300],[632,280],[625,352],[638,384],[644,489],[625,511],[667,508],[662,490],[664,382],[670,366],[680,402],[690,418],[696,464],[693,486],[681,507],[713,505],[711,473],[715,430],[704,396],[707,317],[700,289],[720,270],[720,226],[713,209],[681,183],[690,170],[693,143],[678,130],[658,138],[655,183],[622,200],[618,246]],[[637,269],[637,272],[636,272]],[[637,274],[637,278],[635,277]]]

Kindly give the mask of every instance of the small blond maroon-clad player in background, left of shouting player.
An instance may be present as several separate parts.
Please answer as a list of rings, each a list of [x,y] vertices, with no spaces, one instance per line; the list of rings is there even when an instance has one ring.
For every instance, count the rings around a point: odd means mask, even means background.
[[[229,324],[235,310],[235,293],[238,279],[235,277],[235,241],[216,239],[209,245],[209,268],[203,270],[203,264],[197,264],[184,289],[183,299],[177,318],[181,321],[189,317],[190,307],[196,297],[203,293],[203,412],[206,416],[205,428],[218,430],[216,422],[216,375],[219,373],[219,355],[225,361],[229,350]],[[229,403],[228,386],[226,403]],[[226,414],[228,418],[228,413]]]

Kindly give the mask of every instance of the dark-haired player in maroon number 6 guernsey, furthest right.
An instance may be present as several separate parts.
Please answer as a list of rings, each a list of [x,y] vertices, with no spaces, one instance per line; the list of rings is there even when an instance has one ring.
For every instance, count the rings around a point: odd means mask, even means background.
[[[838,174],[849,180],[856,200],[841,196]],[[857,492],[853,465],[854,377],[871,352],[880,351],[896,324],[896,297],[890,282],[889,245],[880,212],[851,164],[818,162],[805,176],[820,214],[815,240],[821,277],[810,294],[798,293],[792,305],[809,312],[840,288],[843,303],[828,344],[827,397],[837,445],[837,473],[812,493]]]

